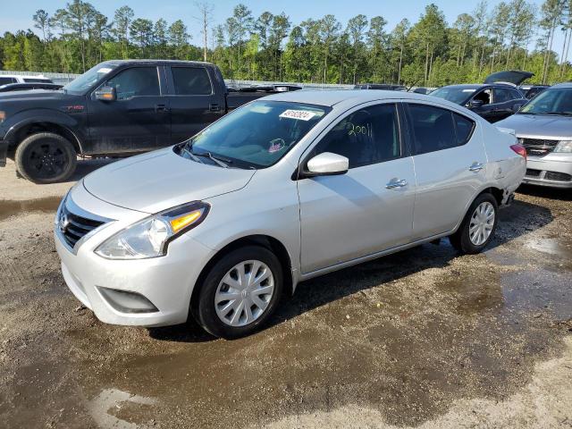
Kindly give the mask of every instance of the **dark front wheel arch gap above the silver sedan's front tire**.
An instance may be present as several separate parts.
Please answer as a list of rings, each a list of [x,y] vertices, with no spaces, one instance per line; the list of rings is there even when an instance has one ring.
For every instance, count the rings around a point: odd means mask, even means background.
[[[225,255],[228,255],[232,250],[242,248],[245,246],[262,246],[271,250],[282,265],[282,272],[284,274],[284,295],[290,296],[294,293],[294,279],[292,275],[292,261],[288,249],[282,244],[282,241],[275,239],[270,235],[253,234],[240,237],[239,239],[232,240],[209,259],[206,265],[198,275],[196,287],[193,288],[190,304],[191,306],[197,305],[200,286],[204,282],[206,275],[210,272],[211,268],[220,261]]]

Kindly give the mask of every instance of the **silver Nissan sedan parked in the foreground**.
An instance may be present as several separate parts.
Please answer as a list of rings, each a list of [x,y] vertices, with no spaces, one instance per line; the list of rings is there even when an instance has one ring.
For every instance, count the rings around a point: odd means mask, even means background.
[[[100,320],[190,315],[236,338],[311,277],[442,237],[481,251],[525,158],[514,135],[438,98],[284,93],[89,174],[63,198],[55,244]]]

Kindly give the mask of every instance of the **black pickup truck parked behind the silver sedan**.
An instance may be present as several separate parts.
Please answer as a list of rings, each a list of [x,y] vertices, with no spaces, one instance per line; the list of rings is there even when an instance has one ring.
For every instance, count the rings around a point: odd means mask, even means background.
[[[170,146],[250,100],[293,89],[228,89],[211,63],[100,63],[59,90],[0,93],[0,166],[13,156],[29,181],[64,181],[78,155],[129,156]]]

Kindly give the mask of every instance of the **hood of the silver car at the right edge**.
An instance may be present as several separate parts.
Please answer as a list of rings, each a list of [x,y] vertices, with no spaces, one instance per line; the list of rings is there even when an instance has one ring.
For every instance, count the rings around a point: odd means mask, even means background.
[[[517,131],[518,137],[572,139],[572,117],[569,116],[513,114],[495,125]]]

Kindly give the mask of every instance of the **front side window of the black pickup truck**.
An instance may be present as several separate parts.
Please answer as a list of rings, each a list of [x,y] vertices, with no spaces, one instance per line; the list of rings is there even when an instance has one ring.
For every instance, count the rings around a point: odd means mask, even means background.
[[[118,100],[131,97],[159,96],[159,76],[156,67],[133,67],[120,71],[107,85],[115,88]]]

